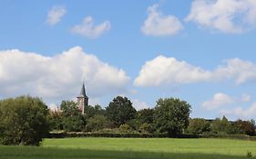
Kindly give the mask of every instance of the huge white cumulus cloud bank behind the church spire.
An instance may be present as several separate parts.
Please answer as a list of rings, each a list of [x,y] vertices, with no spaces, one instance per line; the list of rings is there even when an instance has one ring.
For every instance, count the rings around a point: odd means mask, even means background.
[[[83,76],[89,97],[122,93],[129,77],[122,69],[86,54],[80,46],[52,57],[19,50],[0,51],[0,94],[52,99],[76,97]]]

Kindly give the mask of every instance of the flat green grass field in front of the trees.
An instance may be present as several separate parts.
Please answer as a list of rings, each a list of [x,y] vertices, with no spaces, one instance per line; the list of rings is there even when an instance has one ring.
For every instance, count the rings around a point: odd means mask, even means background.
[[[46,139],[40,147],[0,146],[0,159],[239,159],[256,142],[225,139],[65,138]],[[255,157],[254,157],[255,155]]]

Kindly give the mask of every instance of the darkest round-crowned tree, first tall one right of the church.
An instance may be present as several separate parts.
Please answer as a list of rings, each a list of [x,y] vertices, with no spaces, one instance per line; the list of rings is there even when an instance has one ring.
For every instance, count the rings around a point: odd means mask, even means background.
[[[106,107],[108,119],[118,126],[136,117],[136,109],[127,97],[117,96]]]

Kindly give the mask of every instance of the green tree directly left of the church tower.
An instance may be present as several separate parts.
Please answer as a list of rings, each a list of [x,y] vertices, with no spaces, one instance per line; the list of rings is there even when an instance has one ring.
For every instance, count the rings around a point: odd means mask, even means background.
[[[62,110],[63,129],[67,132],[82,131],[85,125],[84,116],[73,101],[62,101],[60,104]]]

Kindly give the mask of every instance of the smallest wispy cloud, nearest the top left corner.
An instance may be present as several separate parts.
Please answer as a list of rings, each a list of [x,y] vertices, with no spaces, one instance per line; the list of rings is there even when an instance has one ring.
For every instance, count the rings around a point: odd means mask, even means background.
[[[56,25],[66,13],[67,11],[64,6],[53,6],[48,12],[46,23],[48,25]]]

